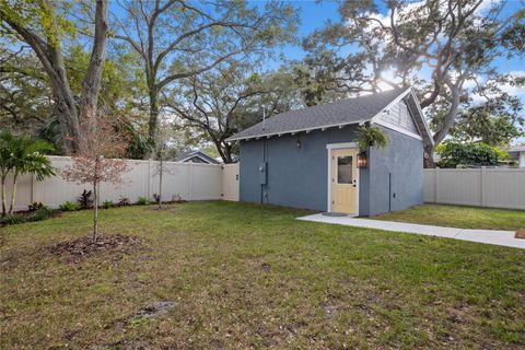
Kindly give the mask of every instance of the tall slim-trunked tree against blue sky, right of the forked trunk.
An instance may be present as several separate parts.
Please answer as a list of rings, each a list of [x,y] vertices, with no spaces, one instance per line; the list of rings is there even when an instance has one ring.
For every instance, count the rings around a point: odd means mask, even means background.
[[[128,43],[142,59],[152,147],[161,92],[245,54],[270,52],[271,47],[293,39],[298,20],[290,5],[276,1],[264,8],[249,8],[243,0],[138,0],[121,7],[127,16],[115,16],[115,37]]]

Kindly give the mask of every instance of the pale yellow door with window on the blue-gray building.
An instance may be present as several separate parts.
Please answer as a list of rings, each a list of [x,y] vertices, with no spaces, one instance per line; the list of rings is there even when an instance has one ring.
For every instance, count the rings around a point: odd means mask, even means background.
[[[358,186],[358,149],[332,150],[331,211],[355,214]]]

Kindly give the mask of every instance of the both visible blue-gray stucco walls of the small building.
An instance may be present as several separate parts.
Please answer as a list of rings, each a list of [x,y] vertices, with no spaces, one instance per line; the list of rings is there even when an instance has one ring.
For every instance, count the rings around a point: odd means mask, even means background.
[[[326,211],[326,145],[355,141],[355,129],[357,126],[348,126],[242,141],[240,199]],[[389,137],[388,148],[372,149],[369,167],[359,170],[359,215],[375,215],[423,202],[422,141],[387,128],[384,130]],[[298,140],[301,140],[301,148],[296,145]],[[259,172],[265,162],[266,185]]]

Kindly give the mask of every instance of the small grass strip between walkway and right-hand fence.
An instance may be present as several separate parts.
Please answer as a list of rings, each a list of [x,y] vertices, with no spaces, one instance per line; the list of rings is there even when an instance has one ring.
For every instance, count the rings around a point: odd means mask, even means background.
[[[438,226],[487,230],[524,230],[525,211],[445,205],[423,205],[374,217],[377,220]]]

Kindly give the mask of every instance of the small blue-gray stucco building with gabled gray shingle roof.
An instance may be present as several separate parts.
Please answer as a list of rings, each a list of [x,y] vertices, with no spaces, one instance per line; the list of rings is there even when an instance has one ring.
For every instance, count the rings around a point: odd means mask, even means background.
[[[360,125],[381,127],[386,149],[366,150]],[[374,215],[423,201],[423,144],[432,142],[411,89],[292,110],[230,138],[241,142],[240,199]]]

